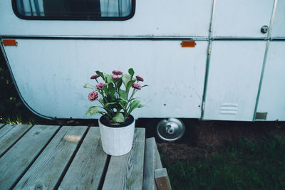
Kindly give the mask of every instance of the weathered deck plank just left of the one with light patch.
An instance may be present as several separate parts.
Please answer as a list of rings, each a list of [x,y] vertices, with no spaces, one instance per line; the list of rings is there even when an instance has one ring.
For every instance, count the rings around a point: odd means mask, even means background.
[[[0,158],[0,189],[10,189],[59,126],[35,125]]]

